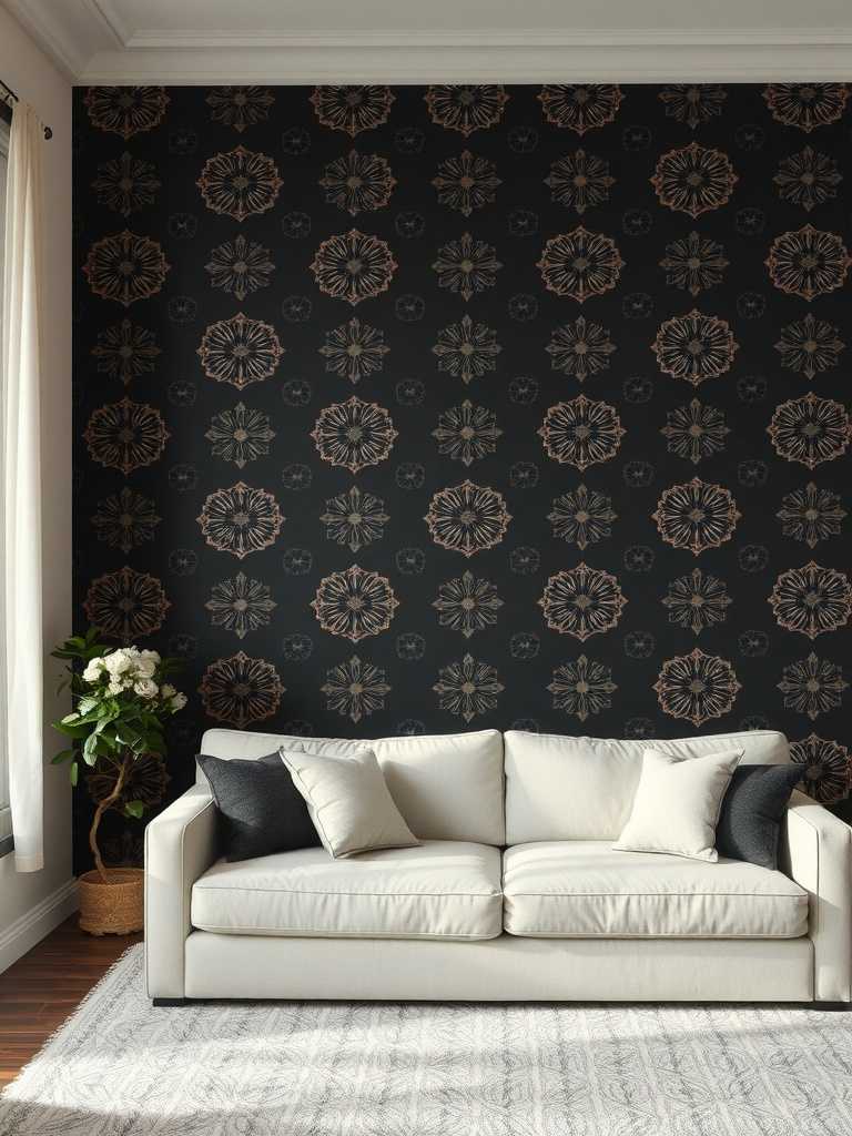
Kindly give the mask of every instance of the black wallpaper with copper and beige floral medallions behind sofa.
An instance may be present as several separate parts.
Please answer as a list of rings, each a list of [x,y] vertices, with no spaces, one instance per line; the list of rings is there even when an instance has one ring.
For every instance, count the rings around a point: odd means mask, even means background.
[[[77,91],[77,624],[190,694],[134,795],[215,724],[770,726],[844,799],[847,95]]]

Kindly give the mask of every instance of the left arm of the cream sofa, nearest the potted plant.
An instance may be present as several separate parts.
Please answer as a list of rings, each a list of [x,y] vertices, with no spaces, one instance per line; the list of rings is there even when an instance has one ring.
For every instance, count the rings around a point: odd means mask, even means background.
[[[184,996],[184,944],[192,885],[216,859],[216,807],[194,785],[145,828],[145,988]]]

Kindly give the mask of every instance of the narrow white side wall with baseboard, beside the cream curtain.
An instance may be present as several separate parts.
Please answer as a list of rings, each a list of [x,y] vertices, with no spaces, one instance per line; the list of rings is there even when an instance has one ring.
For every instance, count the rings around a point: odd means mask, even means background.
[[[53,128],[44,143],[45,236],[42,466],[44,477],[44,652],[72,620],[72,87],[20,25],[0,8],[0,78]],[[57,662],[44,667],[44,720],[65,712]],[[58,737],[45,729],[44,860],[18,875],[0,859],[0,971],[30,950],[75,905],[68,771],[49,765]]]

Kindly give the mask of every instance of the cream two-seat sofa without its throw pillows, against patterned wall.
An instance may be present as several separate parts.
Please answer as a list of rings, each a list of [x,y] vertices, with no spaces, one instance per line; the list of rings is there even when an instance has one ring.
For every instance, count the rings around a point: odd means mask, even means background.
[[[212,729],[202,751],[259,758],[294,741]],[[790,760],[769,730],[654,746],[732,743],[744,763]],[[769,871],[611,850],[646,743],[482,730],[370,744],[420,847],[227,863],[200,772],[151,821],[156,1003],[852,999],[852,829],[803,794]]]

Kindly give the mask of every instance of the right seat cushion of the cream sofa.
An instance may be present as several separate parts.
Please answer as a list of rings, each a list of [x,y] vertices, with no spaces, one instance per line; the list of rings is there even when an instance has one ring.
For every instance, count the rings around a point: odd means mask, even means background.
[[[503,922],[511,935],[797,938],[808,933],[808,894],[780,871],[741,860],[616,852],[602,841],[508,849],[503,892]]]

